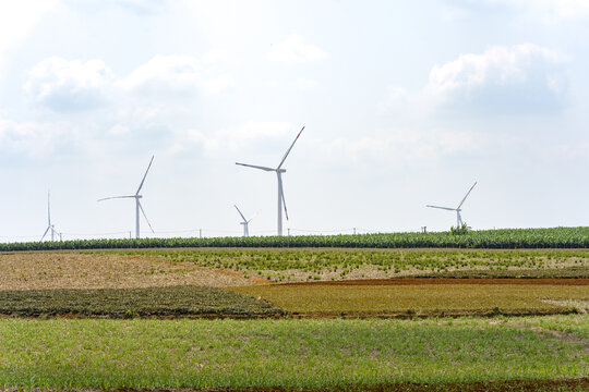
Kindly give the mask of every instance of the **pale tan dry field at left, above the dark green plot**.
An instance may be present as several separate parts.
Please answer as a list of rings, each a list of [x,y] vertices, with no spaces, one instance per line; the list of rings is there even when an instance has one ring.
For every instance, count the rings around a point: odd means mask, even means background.
[[[77,252],[1,253],[0,277],[0,291],[178,285],[223,287],[256,282],[237,273],[161,258]]]

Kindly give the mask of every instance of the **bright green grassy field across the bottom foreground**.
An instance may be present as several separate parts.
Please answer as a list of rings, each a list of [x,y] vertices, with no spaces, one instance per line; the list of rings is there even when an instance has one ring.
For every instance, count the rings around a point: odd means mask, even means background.
[[[587,316],[574,317],[585,335]],[[532,331],[527,320],[0,319],[0,385],[351,388],[587,376],[585,343]]]

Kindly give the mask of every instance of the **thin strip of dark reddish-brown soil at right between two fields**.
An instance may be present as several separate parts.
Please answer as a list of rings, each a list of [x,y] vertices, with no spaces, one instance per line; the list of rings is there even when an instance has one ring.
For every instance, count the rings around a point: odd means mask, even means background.
[[[516,284],[516,285],[589,285],[589,279],[447,279],[447,278],[394,278],[358,279],[345,281],[314,281],[280,283],[278,285],[422,285],[422,284]]]

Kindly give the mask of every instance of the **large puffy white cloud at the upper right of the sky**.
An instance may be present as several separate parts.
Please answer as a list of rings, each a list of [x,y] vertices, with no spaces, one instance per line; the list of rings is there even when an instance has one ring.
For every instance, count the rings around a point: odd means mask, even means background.
[[[428,91],[438,103],[482,112],[560,109],[567,77],[564,57],[536,45],[494,46],[434,65]]]

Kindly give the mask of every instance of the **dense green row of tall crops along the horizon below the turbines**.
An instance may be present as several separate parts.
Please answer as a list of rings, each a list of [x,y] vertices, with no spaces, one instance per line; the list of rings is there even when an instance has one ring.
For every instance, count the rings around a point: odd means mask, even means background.
[[[462,235],[455,235],[450,232],[436,232],[212,238],[74,240],[64,242],[3,243],[0,244],[0,252],[175,247],[588,248],[589,226],[481,230]]]

